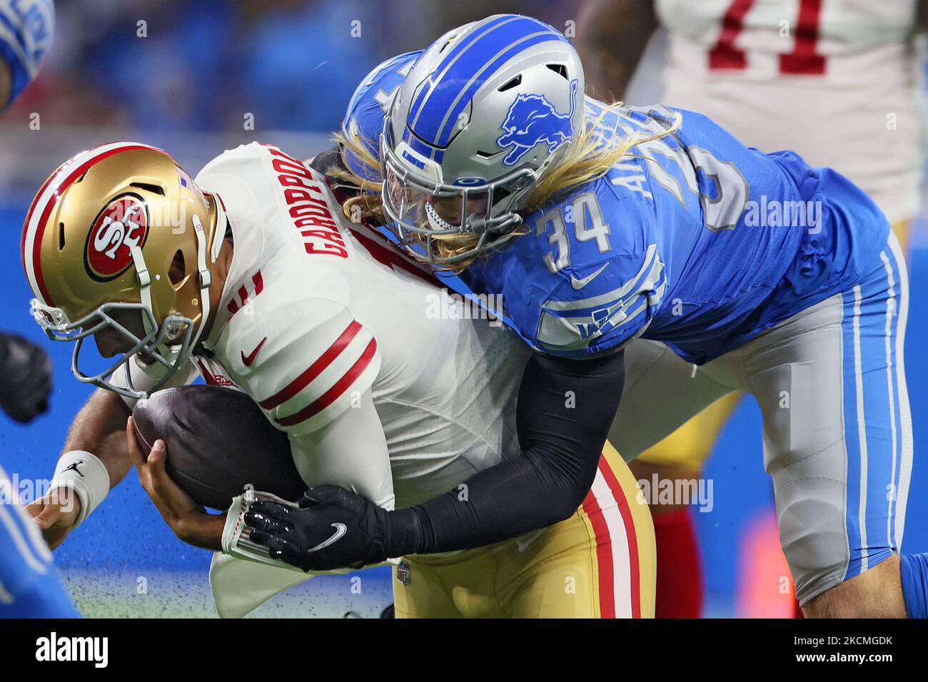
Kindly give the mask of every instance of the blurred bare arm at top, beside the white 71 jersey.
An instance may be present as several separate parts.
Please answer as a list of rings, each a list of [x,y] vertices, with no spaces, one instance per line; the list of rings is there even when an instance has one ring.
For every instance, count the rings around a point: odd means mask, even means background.
[[[575,40],[586,91],[607,102],[621,99],[657,27],[653,0],[586,3]]]

